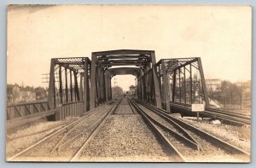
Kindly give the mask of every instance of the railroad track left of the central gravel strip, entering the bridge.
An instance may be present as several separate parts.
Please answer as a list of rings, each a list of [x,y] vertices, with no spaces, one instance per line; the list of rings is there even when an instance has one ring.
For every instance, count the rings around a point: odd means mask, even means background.
[[[53,161],[56,161],[56,158],[59,158],[63,161],[74,161],[79,157],[81,148],[85,148],[86,144],[96,136],[97,131],[100,130],[108,115],[113,113],[113,108],[118,103],[119,101],[110,102],[91,110],[87,115],[56,130],[8,160],[31,161],[31,159],[36,159],[44,161],[45,159],[49,161],[51,158],[55,158]],[[89,120],[90,122],[88,122]],[[65,150],[68,153],[62,152],[63,148],[68,149]]]

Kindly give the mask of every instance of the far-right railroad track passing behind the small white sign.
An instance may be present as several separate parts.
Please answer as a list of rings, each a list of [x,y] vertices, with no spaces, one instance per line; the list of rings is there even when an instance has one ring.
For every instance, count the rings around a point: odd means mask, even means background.
[[[171,103],[171,106],[191,111],[191,105],[183,103]],[[250,125],[251,116],[247,114],[234,113],[214,108],[206,107],[204,112],[201,112],[201,117],[211,117],[213,119],[220,119],[224,122],[233,125]]]

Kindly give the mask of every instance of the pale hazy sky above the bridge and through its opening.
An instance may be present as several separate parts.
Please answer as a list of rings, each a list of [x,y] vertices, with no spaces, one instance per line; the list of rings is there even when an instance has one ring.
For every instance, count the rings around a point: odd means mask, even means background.
[[[58,5],[11,7],[8,84],[46,86],[50,58],[112,49],[155,50],[161,58],[200,56],[206,78],[251,79],[248,6]],[[116,77],[125,90],[135,77]]]

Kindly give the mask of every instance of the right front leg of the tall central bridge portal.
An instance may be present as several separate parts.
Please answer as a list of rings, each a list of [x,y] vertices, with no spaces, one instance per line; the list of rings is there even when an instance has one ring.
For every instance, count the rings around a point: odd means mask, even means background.
[[[151,51],[150,56],[151,56],[151,61],[152,61],[152,74],[153,74],[153,78],[154,78],[154,98],[155,98],[156,106],[161,107],[160,86],[159,86],[160,84],[159,84],[159,80],[157,78],[156,68],[154,66],[156,63],[154,51]]]

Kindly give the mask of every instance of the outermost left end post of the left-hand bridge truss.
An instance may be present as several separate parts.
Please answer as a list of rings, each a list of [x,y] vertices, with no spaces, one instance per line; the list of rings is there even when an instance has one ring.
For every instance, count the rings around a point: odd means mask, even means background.
[[[55,59],[50,61],[49,70],[49,93],[48,93],[49,108],[53,109],[56,107],[55,102]]]

